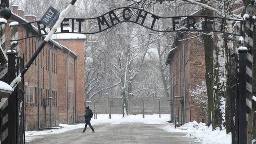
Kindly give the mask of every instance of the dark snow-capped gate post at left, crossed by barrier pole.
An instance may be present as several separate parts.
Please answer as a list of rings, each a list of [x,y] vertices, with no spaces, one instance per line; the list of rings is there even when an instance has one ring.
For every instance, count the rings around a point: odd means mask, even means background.
[[[8,84],[16,78],[16,51],[8,51]],[[8,144],[17,144],[17,96],[16,89],[8,98]]]

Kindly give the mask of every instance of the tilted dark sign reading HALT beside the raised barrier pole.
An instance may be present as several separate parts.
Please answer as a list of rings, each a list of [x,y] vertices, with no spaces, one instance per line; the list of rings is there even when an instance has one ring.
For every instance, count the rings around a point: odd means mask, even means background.
[[[49,28],[52,28],[54,24],[57,22],[59,16],[60,12],[53,8],[52,6],[50,6],[50,8],[46,11],[44,16],[41,18],[40,22],[42,22]]]

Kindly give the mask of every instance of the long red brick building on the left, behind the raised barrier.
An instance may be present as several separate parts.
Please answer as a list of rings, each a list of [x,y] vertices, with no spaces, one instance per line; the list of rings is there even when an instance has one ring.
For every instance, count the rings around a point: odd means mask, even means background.
[[[18,6],[12,6],[12,16],[6,25],[8,49],[11,32],[8,25],[12,21],[19,24],[32,22],[36,21],[36,16],[24,15]],[[18,26],[15,39],[26,37],[26,27]],[[29,36],[39,34],[36,26],[32,26],[32,29]],[[78,37],[59,40],[60,43],[51,39],[24,75],[26,130],[58,126],[59,123],[82,122],[86,37],[80,34]],[[37,36],[18,41],[18,56],[24,58],[24,64],[30,60],[43,38]]]

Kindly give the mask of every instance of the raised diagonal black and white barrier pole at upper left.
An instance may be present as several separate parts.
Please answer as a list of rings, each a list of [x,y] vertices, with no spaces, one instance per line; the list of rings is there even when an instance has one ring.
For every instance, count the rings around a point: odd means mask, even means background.
[[[28,61],[28,63],[26,64],[26,66],[24,67],[24,69],[21,71],[21,73],[12,81],[12,83],[10,84],[10,86],[12,88],[16,88],[16,86],[18,85],[18,83],[21,81],[21,78],[24,76],[24,74],[27,72],[28,68],[30,68],[30,66],[32,65],[32,63],[34,62],[34,60],[36,59],[36,57],[38,56],[38,54],[41,52],[41,50],[44,48],[44,46],[46,45],[46,43],[50,40],[50,38],[52,37],[52,35],[56,32],[57,28],[60,26],[61,22],[64,20],[64,18],[66,17],[66,15],[70,12],[70,10],[73,8],[74,4],[75,4],[76,0],[72,0],[70,2],[70,4],[68,4],[67,8],[65,8],[64,10],[62,10],[62,12],[60,12],[60,16],[56,22],[56,24],[54,24],[54,26],[52,27],[52,30],[50,30],[50,32],[46,35],[46,37],[44,38],[43,42],[40,44],[40,46],[38,47],[38,49],[36,50],[36,52],[33,54],[32,58]]]

